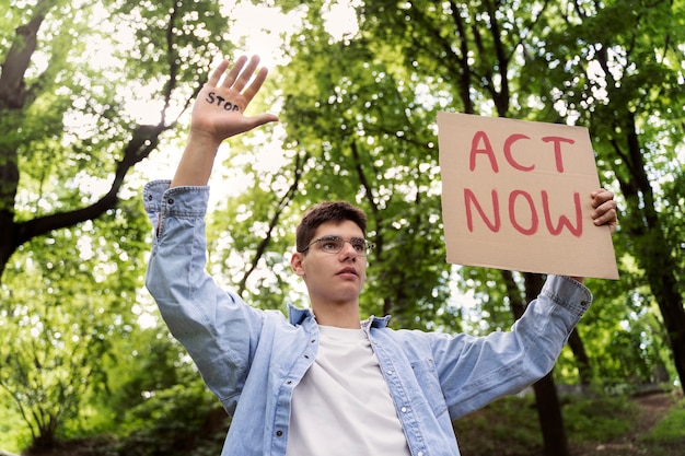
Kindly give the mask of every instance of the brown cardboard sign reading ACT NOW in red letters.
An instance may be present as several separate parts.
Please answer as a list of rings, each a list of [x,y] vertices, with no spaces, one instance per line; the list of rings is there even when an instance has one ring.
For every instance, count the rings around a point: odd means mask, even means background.
[[[585,128],[449,113],[438,127],[448,261],[618,279]]]

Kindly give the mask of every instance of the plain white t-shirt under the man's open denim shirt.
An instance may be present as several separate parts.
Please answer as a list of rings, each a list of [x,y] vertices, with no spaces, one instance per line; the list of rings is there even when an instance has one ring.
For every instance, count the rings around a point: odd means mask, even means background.
[[[294,388],[287,456],[409,456],[362,329],[320,326],[316,360]]]

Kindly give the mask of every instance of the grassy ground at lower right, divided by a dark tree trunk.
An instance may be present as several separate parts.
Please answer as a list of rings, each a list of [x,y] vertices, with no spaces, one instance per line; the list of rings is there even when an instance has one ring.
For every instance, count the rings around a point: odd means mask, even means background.
[[[562,401],[573,456],[685,455],[685,401],[677,393]],[[463,456],[543,454],[533,397],[502,399],[454,429]]]

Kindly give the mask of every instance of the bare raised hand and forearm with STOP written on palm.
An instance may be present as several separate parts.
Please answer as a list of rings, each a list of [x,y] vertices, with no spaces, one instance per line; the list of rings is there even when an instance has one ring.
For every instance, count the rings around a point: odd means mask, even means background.
[[[207,185],[223,140],[278,120],[274,114],[243,115],[266,80],[266,68],[255,74],[258,65],[259,57],[243,56],[231,69],[223,60],[211,73],[193,107],[188,142],[172,187]]]

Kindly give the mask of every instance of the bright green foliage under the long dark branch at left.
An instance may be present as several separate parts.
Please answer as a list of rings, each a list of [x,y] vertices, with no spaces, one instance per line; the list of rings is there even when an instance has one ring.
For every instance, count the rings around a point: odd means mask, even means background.
[[[123,204],[114,220],[36,238],[7,270],[0,386],[34,445],[49,446],[66,435],[66,422],[79,414],[89,388],[106,377],[98,360],[113,339],[132,330],[130,302],[142,282],[136,264],[144,246],[139,204]],[[127,219],[127,210],[139,215]]]

